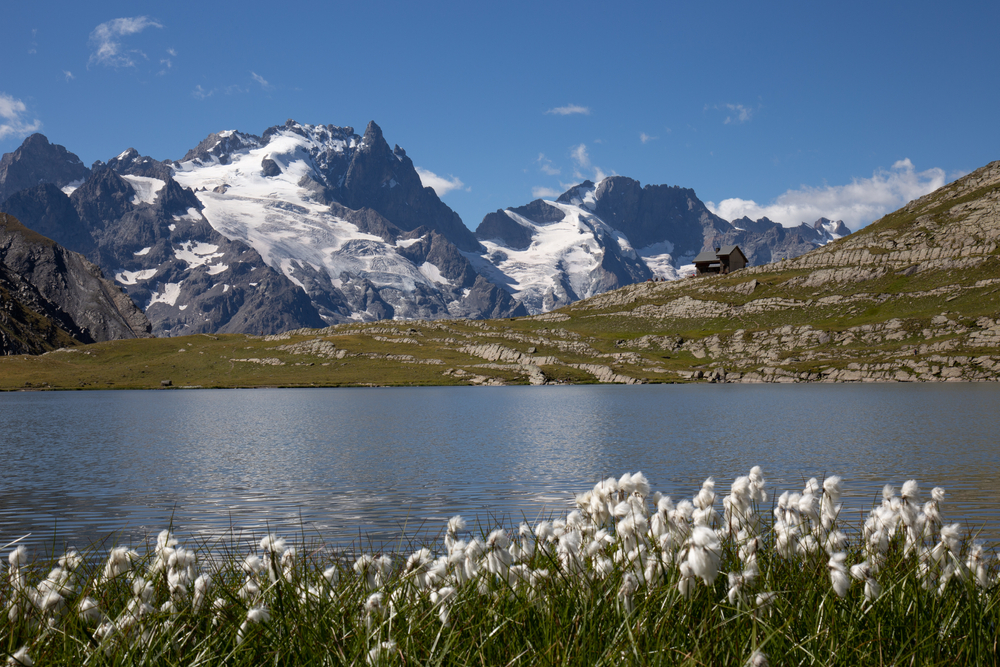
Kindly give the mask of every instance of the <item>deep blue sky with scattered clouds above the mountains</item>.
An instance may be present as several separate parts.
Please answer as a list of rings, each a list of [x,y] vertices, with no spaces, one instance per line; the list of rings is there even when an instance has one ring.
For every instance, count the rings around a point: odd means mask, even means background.
[[[230,7],[5,8],[0,151],[375,120],[471,228],[602,174],[856,228],[1000,159],[995,1]]]

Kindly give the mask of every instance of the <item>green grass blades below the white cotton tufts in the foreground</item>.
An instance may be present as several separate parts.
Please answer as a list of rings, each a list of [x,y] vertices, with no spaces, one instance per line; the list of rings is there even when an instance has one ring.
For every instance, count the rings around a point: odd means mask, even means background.
[[[623,489],[608,497],[612,504],[631,502],[634,512],[641,503],[642,514],[652,521],[653,498],[639,495],[646,492]],[[900,501],[892,502],[898,516]],[[0,583],[0,604],[6,608],[0,618],[0,655],[24,649],[39,665],[345,665],[364,664],[374,650],[373,662],[386,665],[743,665],[761,651],[775,665],[997,664],[995,559],[981,585],[973,570],[961,568],[970,545],[945,551],[932,571],[941,577],[948,563],[960,568],[941,586],[940,578],[921,578],[920,563],[927,557],[907,555],[896,530],[887,548],[878,551],[882,564],[875,579],[881,594],[869,600],[863,584],[854,582],[840,597],[831,585],[825,551],[779,555],[768,514],[773,508],[773,501],[765,502],[745,517],[744,527],[759,535],[759,575],[733,602],[726,573],[744,571],[747,561],[745,555],[741,561],[739,541],[725,531],[715,548],[719,576],[710,584],[696,579],[690,593],[682,594],[678,563],[690,562],[687,550],[695,548],[684,534],[698,530],[690,518],[671,526],[671,535],[677,531],[673,545],[642,535],[639,564],[639,552],[628,552],[621,539],[621,522],[611,518],[597,526],[586,514],[582,521],[557,526],[562,537],[538,539],[529,556],[508,556],[512,567],[492,570],[490,554],[511,549],[496,533],[464,531],[452,536],[466,540],[466,546],[475,537],[479,549],[430,545],[437,547],[430,555],[439,558],[436,569],[429,558],[414,565],[408,553],[387,553],[378,577],[356,567],[353,556],[330,553],[313,542],[297,544],[297,553],[284,557],[291,553],[285,545],[264,550],[262,542],[248,552],[237,544],[204,544],[186,581],[176,574],[184,572],[185,552],[175,545],[159,551],[171,565],[155,567],[158,550],[153,549],[136,555],[126,572],[109,580],[102,579],[107,554],[91,552],[61,589],[56,611],[32,603],[38,599],[35,587],[53,564],[12,565]],[[714,519],[717,528],[719,521]],[[817,526],[799,528],[802,536],[818,535]],[[574,529],[586,547],[600,536],[598,528],[609,530],[612,539],[578,552],[567,546]],[[864,529],[853,528],[845,547],[848,565],[873,557],[862,543]],[[523,539],[535,544],[545,531],[536,526]],[[931,533],[922,541],[928,549],[938,541]],[[514,529],[510,534],[520,539]],[[5,556],[9,546],[0,550]],[[254,553],[262,559],[260,571],[244,566],[245,557]],[[568,563],[566,553],[580,554],[577,564]],[[613,564],[607,569],[600,564],[605,559]],[[661,572],[650,575],[642,563],[656,559]],[[269,575],[268,565],[275,574]],[[477,573],[468,576],[468,567]],[[433,571],[436,578],[421,579]],[[197,609],[192,602],[196,572],[212,581]],[[334,574],[332,583],[324,572]],[[15,585],[19,576],[23,584]],[[626,589],[636,577],[629,594]],[[178,581],[186,588],[171,590],[170,582]],[[131,616],[143,590],[143,611]],[[764,593],[774,594],[771,604],[758,600]],[[96,604],[100,618],[82,617],[85,599]],[[250,622],[250,616],[261,613],[250,614],[255,609],[266,609],[268,619]],[[115,624],[119,629],[108,629]],[[392,642],[391,648],[379,654],[383,642]]]

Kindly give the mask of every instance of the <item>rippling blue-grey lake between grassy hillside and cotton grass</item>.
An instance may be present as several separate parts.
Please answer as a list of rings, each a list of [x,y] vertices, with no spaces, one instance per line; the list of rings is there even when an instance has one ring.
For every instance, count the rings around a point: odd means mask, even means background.
[[[333,547],[564,514],[642,470],[721,496],[760,465],[772,492],[841,475],[848,517],[915,478],[946,520],[1000,539],[1000,386],[654,385],[104,391],[0,395],[0,547],[248,541]],[[5,551],[5,550],[4,550]]]

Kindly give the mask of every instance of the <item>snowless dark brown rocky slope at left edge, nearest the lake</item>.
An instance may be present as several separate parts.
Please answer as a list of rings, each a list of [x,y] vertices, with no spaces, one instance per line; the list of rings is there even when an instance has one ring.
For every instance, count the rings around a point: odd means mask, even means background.
[[[82,343],[151,335],[142,311],[96,265],[5,213],[0,213],[0,285],[8,297],[16,295],[20,308],[44,316],[45,341],[58,338],[51,325]],[[11,313],[8,305],[4,309]],[[40,351],[37,344],[29,348],[22,351]],[[18,353],[12,350],[16,346],[4,352]]]

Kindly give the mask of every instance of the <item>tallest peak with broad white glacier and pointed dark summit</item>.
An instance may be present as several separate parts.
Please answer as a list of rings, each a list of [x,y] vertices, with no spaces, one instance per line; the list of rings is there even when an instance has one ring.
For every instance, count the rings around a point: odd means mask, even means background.
[[[458,250],[478,250],[475,237],[375,123],[363,137],[293,121],[260,138],[225,132],[172,166],[205,219],[305,290],[327,322],[494,314],[480,307],[492,286],[477,286]]]

